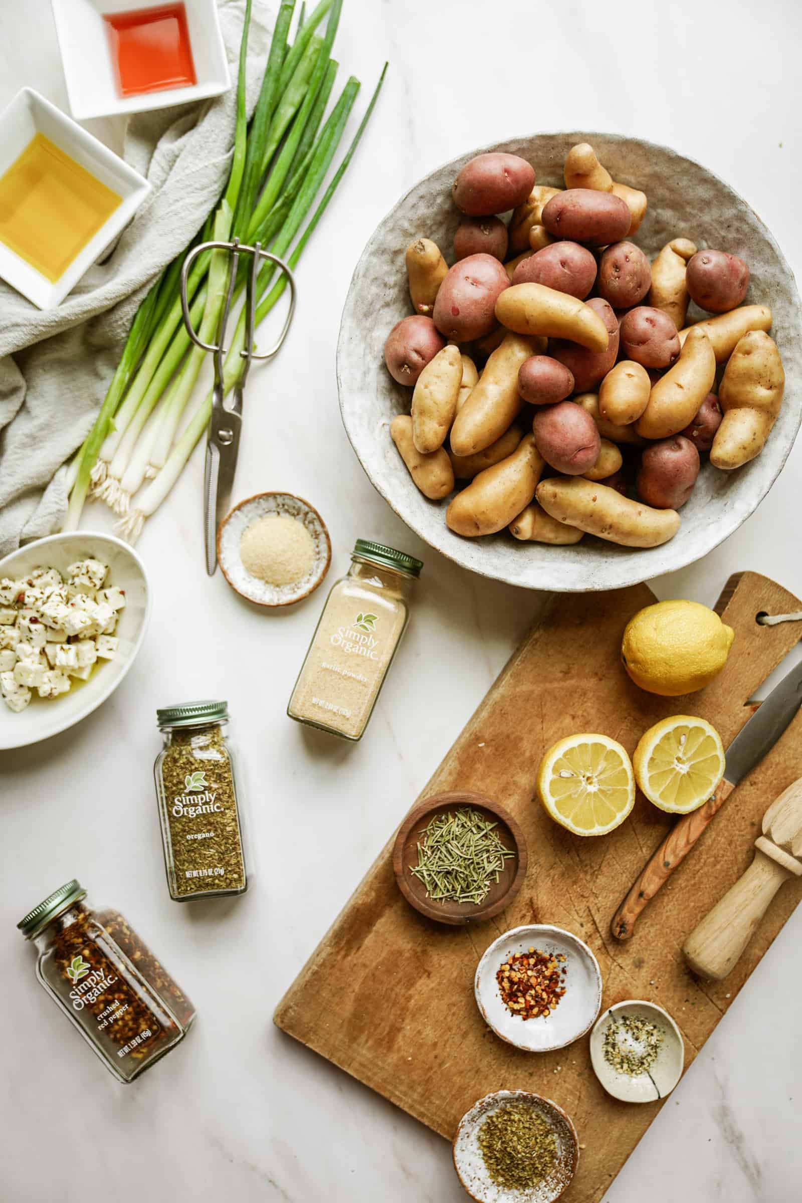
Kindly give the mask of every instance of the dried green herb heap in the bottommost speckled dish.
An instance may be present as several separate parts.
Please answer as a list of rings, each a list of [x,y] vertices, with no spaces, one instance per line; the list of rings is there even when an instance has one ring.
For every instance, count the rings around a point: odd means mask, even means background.
[[[509,1191],[536,1186],[557,1165],[557,1138],[527,1103],[499,1107],[479,1130],[479,1148],[491,1179]]]

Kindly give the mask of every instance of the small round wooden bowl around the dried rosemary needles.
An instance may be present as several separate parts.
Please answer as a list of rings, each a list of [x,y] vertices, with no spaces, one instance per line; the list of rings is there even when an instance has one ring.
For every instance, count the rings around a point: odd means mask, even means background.
[[[498,823],[498,835],[501,843],[515,853],[505,861],[498,882],[491,884],[487,897],[479,906],[475,902],[433,902],[427,896],[423,882],[410,872],[411,866],[417,865],[417,845],[429,819],[434,814],[453,811],[461,806],[470,806],[494,819]],[[427,919],[436,919],[438,923],[452,925],[482,923],[509,906],[523,885],[523,879],[527,876],[527,860],[523,831],[509,811],[483,794],[463,792],[433,794],[432,798],[414,806],[402,823],[393,845],[393,872],[398,888],[406,901]]]

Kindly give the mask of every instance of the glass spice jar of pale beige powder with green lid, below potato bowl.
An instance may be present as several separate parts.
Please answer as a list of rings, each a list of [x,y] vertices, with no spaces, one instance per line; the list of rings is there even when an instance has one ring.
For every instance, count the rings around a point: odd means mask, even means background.
[[[332,586],[296,681],[287,715],[360,740],[406,623],[412,581],[423,564],[357,539],[347,576]]]

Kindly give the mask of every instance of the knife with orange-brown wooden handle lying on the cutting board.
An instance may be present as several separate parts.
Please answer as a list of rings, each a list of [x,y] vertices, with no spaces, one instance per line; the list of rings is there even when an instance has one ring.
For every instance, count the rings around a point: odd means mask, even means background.
[[[616,911],[611,931],[631,940],[638,915],[681,865],[735,787],[774,746],[802,704],[802,663],[776,686],[726,751],[724,777],[712,798],[677,820]]]

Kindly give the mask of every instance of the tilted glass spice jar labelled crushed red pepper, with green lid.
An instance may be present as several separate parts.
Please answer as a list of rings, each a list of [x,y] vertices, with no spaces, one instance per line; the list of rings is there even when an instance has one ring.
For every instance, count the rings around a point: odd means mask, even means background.
[[[94,911],[71,881],[17,926],[38,949],[36,977],[118,1081],[133,1081],[184,1039],[195,1007],[117,911]]]

